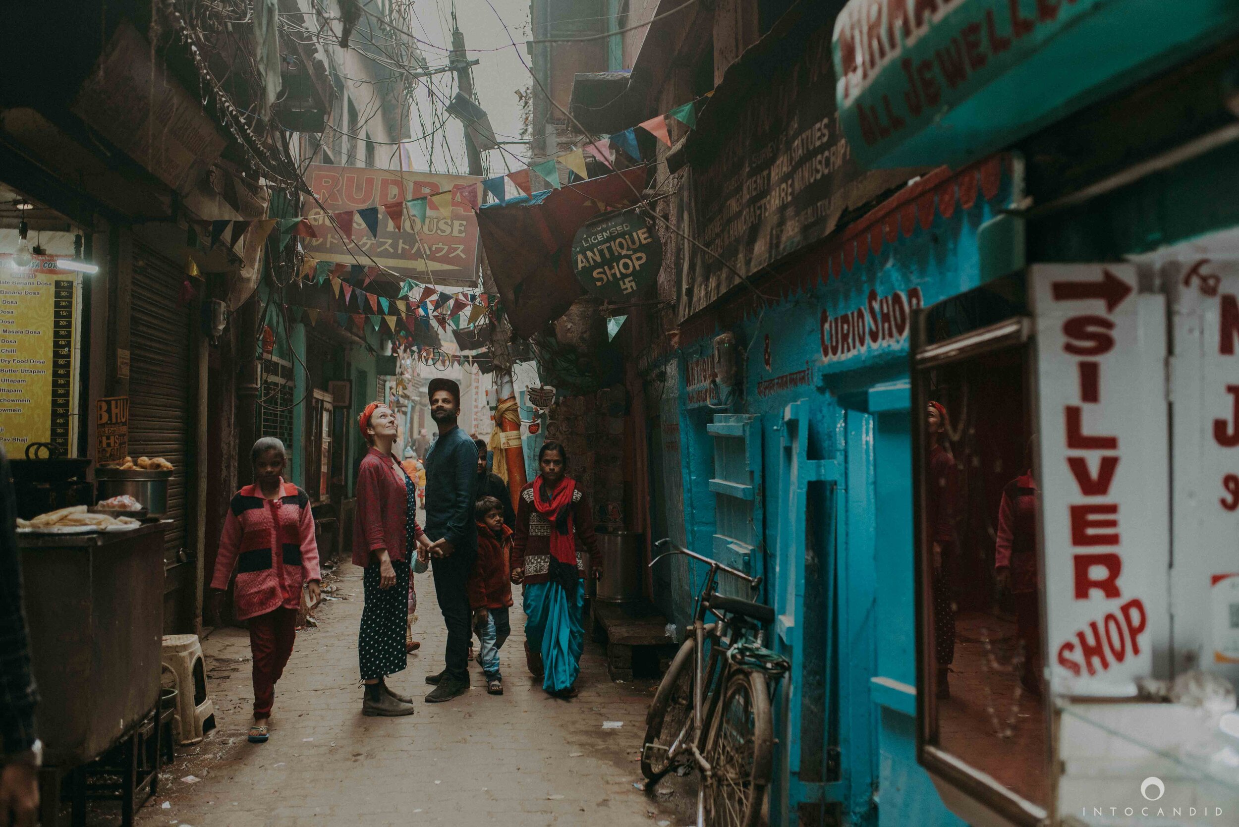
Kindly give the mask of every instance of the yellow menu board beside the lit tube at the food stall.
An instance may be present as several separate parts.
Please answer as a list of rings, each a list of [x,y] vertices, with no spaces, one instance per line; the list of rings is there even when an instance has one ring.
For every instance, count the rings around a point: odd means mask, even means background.
[[[15,269],[0,255],[0,444],[73,453],[77,422],[78,276],[52,256]]]

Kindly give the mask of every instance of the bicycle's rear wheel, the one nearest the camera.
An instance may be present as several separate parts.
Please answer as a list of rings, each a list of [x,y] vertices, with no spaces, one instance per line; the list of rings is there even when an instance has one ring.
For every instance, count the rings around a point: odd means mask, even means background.
[[[710,827],[756,827],[769,784],[774,754],[773,724],[766,676],[735,671],[710,722],[704,780]]]

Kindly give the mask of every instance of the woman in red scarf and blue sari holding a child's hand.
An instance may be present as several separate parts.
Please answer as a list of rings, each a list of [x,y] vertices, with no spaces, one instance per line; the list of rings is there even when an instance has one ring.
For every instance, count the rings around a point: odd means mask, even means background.
[[[512,546],[512,582],[524,584],[525,657],[554,696],[576,696],[585,629],[585,553],[596,561],[593,513],[576,480],[565,475],[567,452],[545,442],[540,473],[520,489]]]

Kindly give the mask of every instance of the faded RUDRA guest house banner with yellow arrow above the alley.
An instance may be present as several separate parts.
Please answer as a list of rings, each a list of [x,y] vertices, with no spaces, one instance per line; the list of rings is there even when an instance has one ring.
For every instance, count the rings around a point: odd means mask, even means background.
[[[373,259],[421,284],[477,285],[475,208],[456,196],[446,209],[436,203],[440,199],[426,199],[425,218],[420,218],[405,210],[404,202],[451,192],[456,184],[476,184],[481,178],[312,163],[306,181],[322,207],[344,223],[339,232],[318,204],[306,207],[306,218],[318,234],[306,239],[313,258],[349,265],[370,265]],[[375,225],[368,227],[367,220]]]

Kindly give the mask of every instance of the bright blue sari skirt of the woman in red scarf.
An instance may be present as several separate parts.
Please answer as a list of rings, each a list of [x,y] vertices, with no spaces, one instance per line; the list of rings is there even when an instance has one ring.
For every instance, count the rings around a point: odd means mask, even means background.
[[[543,688],[560,692],[576,682],[585,651],[585,581],[577,579],[572,599],[563,584],[528,583],[524,588],[525,641],[541,654]]]

